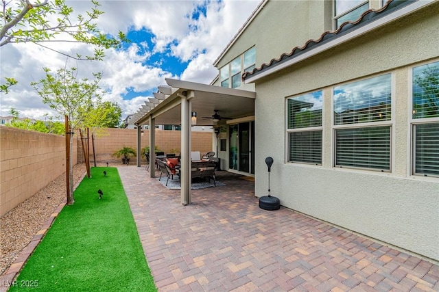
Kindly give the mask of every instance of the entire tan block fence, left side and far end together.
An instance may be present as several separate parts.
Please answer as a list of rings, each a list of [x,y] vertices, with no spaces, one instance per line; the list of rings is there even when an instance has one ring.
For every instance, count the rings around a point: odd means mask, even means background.
[[[135,149],[136,132],[134,129],[102,129],[93,135],[96,161],[119,163],[111,154],[123,146]],[[179,151],[180,131],[156,131],[156,145],[165,153]],[[148,131],[141,137],[141,146],[149,146]],[[211,132],[192,133],[192,150],[203,153],[211,149]],[[92,144],[90,154],[93,159]],[[72,162],[75,165],[83,161],[79,131],[75,131]],[[0,217],[64,174],[65,163],[64,136],[0,125]]]

